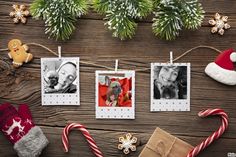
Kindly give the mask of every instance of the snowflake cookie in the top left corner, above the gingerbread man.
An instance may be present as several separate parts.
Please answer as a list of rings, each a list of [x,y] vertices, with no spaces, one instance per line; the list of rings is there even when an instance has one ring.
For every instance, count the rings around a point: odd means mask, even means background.
[[[25,5],[16,5],[12,6],[14,11],[10,12],[10,17],[13,17],[14,23],[26,23],[26,17],[30,15],[30,12],[27,10]]]

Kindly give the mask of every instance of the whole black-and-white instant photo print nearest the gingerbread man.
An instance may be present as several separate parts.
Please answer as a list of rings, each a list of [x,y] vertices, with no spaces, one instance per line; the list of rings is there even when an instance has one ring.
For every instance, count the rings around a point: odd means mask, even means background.
[[[41,58],[42,105],[80,105],[79,58]]]

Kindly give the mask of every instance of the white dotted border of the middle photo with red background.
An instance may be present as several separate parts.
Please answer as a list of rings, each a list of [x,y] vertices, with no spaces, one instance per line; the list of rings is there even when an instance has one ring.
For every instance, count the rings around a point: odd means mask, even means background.
[[[131,74],[132,77],[132,106],[131,107],[101,107],[99,106],[98,83],[100,74]],[[135,119],[135,71],[100,71],[95,72],[96,119]]]

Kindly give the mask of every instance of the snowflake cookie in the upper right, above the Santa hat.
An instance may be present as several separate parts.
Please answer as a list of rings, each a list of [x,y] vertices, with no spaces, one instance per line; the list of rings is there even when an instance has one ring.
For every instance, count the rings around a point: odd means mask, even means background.
[[[221,16],[219,13],[216,13],[214,19],[209,20],[209,24],[214,26],[211,29],[211,33],[219,33],[224,35],[224,29],[229,29],[230,25],[227,23],[228,16]]]

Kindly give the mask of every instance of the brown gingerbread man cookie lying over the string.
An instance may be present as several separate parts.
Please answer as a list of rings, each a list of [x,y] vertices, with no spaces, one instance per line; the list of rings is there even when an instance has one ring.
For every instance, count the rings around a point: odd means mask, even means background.
[[[10,52],[8,56],[13,59],[13,66],[20,67],[23,62],[28,63],[33,59],[33,55],[31,53],[27,53],[28,46],[22,45],[22,42],[19,39],[12,39],[8,43],[8,49]]]

